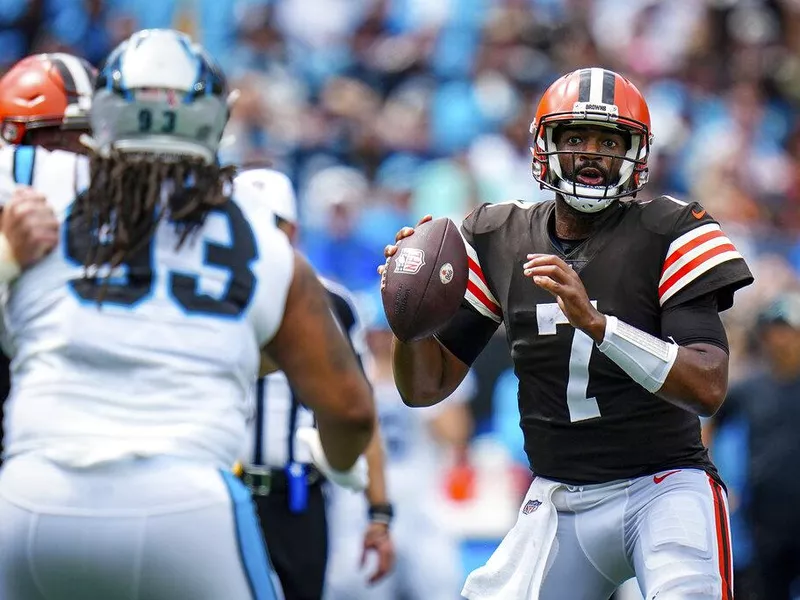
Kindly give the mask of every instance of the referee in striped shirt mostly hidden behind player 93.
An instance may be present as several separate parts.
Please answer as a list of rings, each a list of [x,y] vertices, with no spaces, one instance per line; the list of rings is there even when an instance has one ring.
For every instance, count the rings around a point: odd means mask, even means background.
[[[297,207],[291,181],[272,169],[243,170],[237,183],[246,182],[262,193],[275,214],[276,225],[294,242]],[[364,332],[350,293],[323,279],[337,321],[359,359],[365,352]],[[313,365],[309,365],[313,368]],[[319,600],[323,596],[328,561],[326,479],[313,464],[308,449],[298,443],[298,429],[314,427],[313,413],[302,406],[283,373],[261,377],[256,385],[255,414],[249,448],[242,460],[242,480],[250,488],[258,509],[272,565],[286,600]],[[369,484],[370,524],[364,532],[364,552],[377,554],[371,581],[378,581],[394,566],[390,534],[393,507],[386,492],[380,435],[365,452]],[[353,569],[358,565],[353,565]]]

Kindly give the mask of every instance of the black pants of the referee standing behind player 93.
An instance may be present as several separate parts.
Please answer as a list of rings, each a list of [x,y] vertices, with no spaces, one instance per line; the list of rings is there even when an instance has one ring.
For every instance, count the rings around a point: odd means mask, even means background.
[[[322,482],[308,487],[308,506],[289,510],[284,486],[268,496],[253,496],[272,566],[286,600],[320,600],[328,563],[328,521]]]

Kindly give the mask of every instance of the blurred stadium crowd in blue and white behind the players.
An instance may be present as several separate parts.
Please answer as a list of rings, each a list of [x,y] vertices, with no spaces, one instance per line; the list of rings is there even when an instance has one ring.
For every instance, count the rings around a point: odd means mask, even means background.
[[[221,160],[291,176],[302,249],[364,298],[368,319],[394,233],[426,213],[459,221],[481,202],[546,199],[530,175],[540,93],[578,67],[617,70],[652,112],[645,194],[700,201],[756,275],[724,315],[732,385],[800,352],[797,336],[770,352],[762,335],[800,329],[786,310],[764,316],[800,270],[798,0],[0,0],[0,68],[55,50],[98,64],[146,27],[187,31],[220,61],[241,91]],[[513,522],[528,484],[516,380],[496,342],[475,367],[468,460],[443,477],[465,569]],[[709,423],[708,441],[745,573],[758,562],[743,520],[759,468],[749,444],[763,440],[748,429],[759,415],[740,412]],[[775,427],[796,429],[797,412],[779,411]],[[783,451],[797,458],[800,441]],[[800,491],[784,502],[798,503]]]

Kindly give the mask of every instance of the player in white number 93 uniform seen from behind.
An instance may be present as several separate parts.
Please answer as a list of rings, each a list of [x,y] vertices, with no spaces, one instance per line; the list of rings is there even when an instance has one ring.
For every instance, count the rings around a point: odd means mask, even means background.
[[[229,471],[262,349],[315,410],[333,469],[370,439],[324,289],[216,163],[227,98],[188,37],[134,34],[98,82],[93,156],[37,149],[34,190],[12,194],[8,211],[46,195],[62,226],[3,302],[3,600],[279,598]]]

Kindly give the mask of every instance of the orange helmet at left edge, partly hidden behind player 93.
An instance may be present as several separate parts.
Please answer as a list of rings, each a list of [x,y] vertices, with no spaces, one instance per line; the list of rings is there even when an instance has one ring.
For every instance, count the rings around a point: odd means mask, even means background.
[[[88,129],[97,72],[88,62],[63,53],[23,58],[0,79],[0,135],[24,143],[40,127]]]

